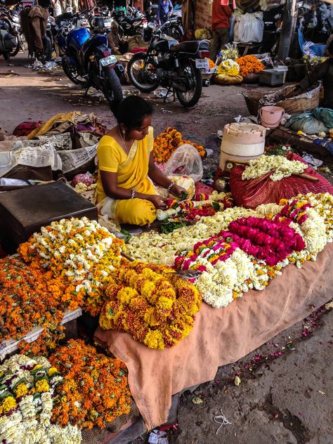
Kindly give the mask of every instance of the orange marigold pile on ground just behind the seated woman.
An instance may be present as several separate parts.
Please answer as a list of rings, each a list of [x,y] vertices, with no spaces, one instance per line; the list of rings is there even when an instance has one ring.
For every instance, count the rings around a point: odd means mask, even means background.
[[[153,154],[155,162],[163,163],[166,162],[171,154],[181,145],[188,143],[194,146],[199,152],[201,157],[206,155],[206,151],[204,147],[201,145],[197,145],[191,141],[184,141],[183,136],[179,131],[174,128],[166,128],[163,133],[159,134],[154,141]]]

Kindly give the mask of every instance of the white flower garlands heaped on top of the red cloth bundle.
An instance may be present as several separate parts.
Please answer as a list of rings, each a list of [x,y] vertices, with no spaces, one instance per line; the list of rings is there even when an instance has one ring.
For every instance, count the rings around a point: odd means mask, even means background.
[[[301,174],[307,169],[306,164],[299,160],[288,160],[283,156],[261,155],[257,159],[250,159],[242,173],[242,180],[256,179],[263,174],[270,174],[269,178],[273,182],[281,181],[282,178]]]

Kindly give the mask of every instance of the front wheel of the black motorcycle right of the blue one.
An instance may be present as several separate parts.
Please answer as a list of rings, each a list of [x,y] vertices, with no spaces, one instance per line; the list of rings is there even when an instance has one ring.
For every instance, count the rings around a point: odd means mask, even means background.
[[[127,65],[127,74],[131,84],[143,93],[155,91],[159,86],[159,80],[156,77],[155,63],[146,64],[147,55],[145,53],[137,53],[133,55]]]

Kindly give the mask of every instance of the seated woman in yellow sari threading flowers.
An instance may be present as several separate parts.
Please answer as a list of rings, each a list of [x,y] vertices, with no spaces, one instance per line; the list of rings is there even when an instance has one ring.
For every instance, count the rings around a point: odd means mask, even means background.
[[[138,96],[122,100],[117,126],[108,131],[97,148],[96,197],[100,214],[117,223],[144,226],[166,209],[166,198],[157,195],[152,183],[180,197],[184,188],[167,178],[152,155],[152,105]]]

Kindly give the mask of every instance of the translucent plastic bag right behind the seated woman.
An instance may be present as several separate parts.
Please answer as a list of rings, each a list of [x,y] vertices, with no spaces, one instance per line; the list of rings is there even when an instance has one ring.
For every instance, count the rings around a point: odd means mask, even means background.
[[[166,162],[164,174],[169,176],[175,173],[189,176],[195,182],[202,179],[204,173],[202,159],[192,145],[188,143],[181,145]]]

